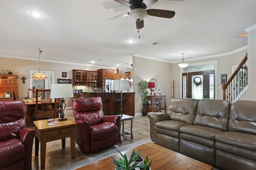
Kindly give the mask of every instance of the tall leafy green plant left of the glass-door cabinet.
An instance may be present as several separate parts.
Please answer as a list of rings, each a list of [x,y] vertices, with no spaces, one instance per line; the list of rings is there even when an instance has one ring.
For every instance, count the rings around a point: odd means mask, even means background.
[[[140,93],[140,100],[143,104],[141,113],[143,116],[145,116],[148,112],[146,109],[147,108],[146,104],[148,102],[148,96],[149,96],[148,83],[146,82],[146,80],[145,81],[142,80],[141,82],[138,83],[138,87],[139,87],[138,91]]]

